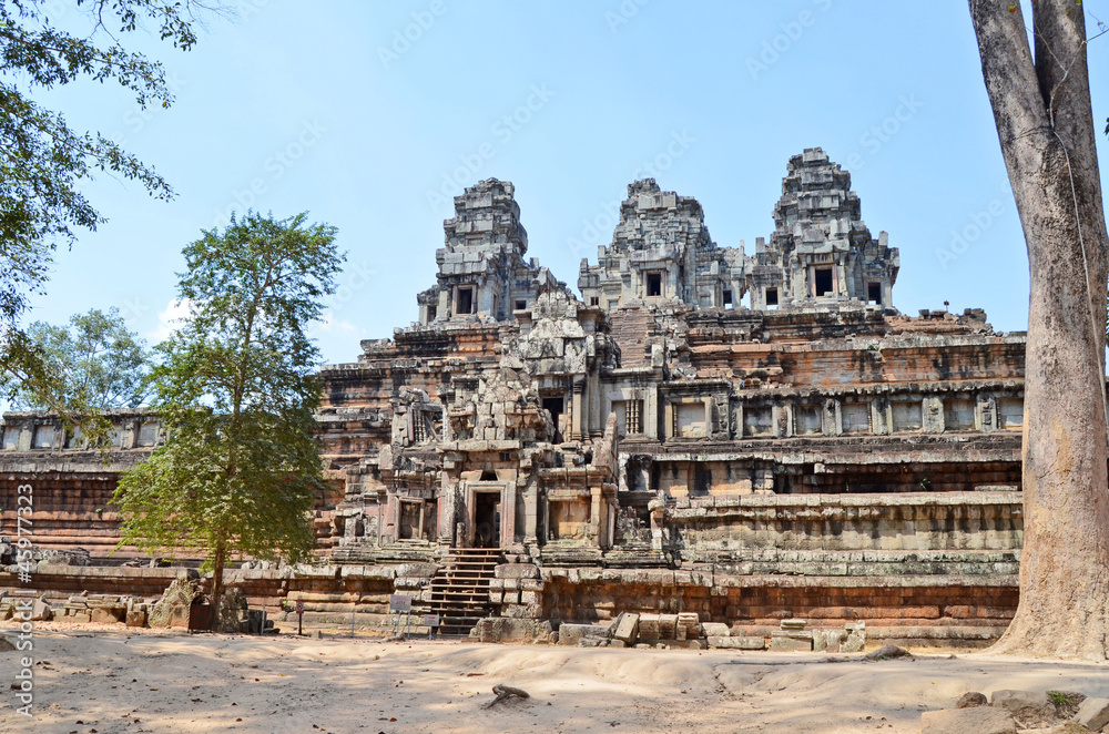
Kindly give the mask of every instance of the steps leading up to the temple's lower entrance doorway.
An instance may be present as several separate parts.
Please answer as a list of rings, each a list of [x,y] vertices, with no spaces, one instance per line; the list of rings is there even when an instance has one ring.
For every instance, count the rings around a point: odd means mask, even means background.
[[[439,634],[469,634],[489,616],[489,580],[501,561],[499,549],[451,548],[431,579],[428,614],[439,615]]]

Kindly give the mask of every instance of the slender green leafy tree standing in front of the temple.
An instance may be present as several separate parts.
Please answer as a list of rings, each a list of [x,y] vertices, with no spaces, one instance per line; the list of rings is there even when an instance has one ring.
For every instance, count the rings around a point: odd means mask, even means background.
[[[166,442],[114,496],[120,544],[199,551],[215,600],[235,557],[303,560],[326,489],[313,436],[318,351],[304,328],[344,256],[335,227],[305,222],[248,213],[185,247],[177,293],[190,315],[153,370]]]

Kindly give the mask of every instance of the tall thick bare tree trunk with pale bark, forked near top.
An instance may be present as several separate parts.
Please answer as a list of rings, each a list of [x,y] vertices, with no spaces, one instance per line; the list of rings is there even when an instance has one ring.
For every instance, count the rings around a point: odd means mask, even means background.
[[[1107,233],[1079,0],[970,0],[1028,247],[1020,603],[994,650],[1109,659]]]

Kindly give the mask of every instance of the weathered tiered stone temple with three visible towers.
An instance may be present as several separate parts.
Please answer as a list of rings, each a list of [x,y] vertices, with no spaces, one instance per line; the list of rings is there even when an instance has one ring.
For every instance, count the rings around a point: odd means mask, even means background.
[[[791,157],[750,255],[713,242],[695,198],[633,182],[580,297],[528,257],[513,193],[490,179],[457,196],[418,323],[323,368],[326,563],[233,583],[321,619],[408,594],[445,631],[621,612],[754,636],[798,619],[917,642],[1004,631],[1025,335],[978,309],[902,314],[898,251],[848,172],[821,149]],[[109,467],[55,422],[4,416],[3,532],[16,486],[49,477],[40,542],[95,559],[114,472],[151,450],[156,417],[119,417]]]

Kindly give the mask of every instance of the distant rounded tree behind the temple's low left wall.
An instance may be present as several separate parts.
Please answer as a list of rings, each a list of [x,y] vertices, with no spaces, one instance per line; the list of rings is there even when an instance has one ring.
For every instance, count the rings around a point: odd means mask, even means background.
[[[47,409],[61,401],[71,411],[99,411],[136,408],[145,400],[151,354],[116,308],[77,314],[69,326],[34,322],[27,335],[57,376],[58,389],[45,398],[41,390],[9,378],[14,407]]]

